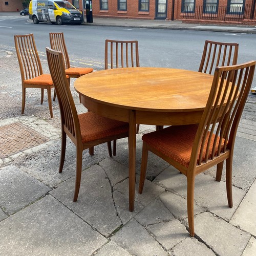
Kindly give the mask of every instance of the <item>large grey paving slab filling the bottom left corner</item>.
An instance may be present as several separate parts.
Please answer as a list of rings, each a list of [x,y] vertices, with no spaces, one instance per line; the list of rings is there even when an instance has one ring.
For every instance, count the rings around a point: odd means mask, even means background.
[[[1,255],[91,255],[107,240],[52,196],[0,222]]]

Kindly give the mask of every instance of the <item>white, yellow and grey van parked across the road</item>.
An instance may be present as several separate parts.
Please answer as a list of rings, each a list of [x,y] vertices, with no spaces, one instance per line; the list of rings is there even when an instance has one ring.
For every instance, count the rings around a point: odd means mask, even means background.
[[[81,24],[82,13],[68,1],[61,0],[31,0],[29,4],[29,18],[34,24],[51,22],[62,25],[63,23]]]

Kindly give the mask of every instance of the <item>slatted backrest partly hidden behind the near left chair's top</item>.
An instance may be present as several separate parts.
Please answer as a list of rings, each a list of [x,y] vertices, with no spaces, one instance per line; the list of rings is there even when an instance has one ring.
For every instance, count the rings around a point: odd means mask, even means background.
[[[62,52],[64,57],[66,69],[70,68],[69,55],[65,44],[64,34],[61,33],[49,33],[51,48],[55,51]]]

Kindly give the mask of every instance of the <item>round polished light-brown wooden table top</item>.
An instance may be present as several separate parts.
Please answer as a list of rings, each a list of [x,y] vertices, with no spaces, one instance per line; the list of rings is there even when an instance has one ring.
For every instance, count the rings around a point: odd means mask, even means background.
[[[154,112],[204,110],[213,76],[169,68],[123,68],[93,72],[74,82],[86,98],[119,108]]]

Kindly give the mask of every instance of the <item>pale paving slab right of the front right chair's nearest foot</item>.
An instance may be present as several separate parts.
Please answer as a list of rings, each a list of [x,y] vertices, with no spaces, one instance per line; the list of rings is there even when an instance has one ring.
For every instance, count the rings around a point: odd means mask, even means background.
[[[249,233],[214,217],[210,212],[195,217],[195,232],[217,255],[225,256],[240,256],[251,238]]]

